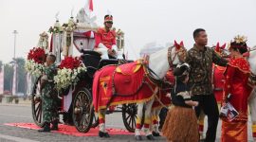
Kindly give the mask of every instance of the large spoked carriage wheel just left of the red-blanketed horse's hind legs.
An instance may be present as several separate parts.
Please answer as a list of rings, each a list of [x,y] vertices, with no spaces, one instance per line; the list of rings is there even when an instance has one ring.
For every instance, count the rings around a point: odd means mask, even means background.
[[[87,133],[92,125],[91,104],[91,93],[86,88],[79,90],[74,98],[72,118],[76,129],[81,133]]]

